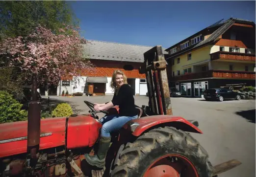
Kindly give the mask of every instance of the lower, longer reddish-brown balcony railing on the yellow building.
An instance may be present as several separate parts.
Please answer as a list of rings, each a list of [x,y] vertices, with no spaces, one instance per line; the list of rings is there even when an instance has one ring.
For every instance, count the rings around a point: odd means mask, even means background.
[[[227,78],[227,79],[255,79],[253,71],[230,71],[230,70],[208,70],[204,72],[188,73],[175,76],[170,79],[173,82],[204,78]]]

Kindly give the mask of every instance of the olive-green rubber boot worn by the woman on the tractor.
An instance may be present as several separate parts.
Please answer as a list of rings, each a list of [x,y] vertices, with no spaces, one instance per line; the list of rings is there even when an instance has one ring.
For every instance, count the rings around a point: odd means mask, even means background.
[[[110,145],[111,137],[101,137],[100,138],[100,147],[97,152],[97,155],[85,154],[86,161],[92,165],[97,166],[98,168],[103,168],[105,166],[105,158],[107,151]]]

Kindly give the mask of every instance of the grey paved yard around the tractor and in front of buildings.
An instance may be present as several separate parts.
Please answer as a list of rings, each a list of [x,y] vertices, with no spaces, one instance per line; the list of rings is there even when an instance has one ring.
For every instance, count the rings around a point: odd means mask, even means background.
[[[69,102],[75,111],[88,113],[83,100],[104,103],[112,96],[51,97],[55,101]],[[213,165],[238,159],[242,165],[219,177],[255,177],[255,100],[208,102],[202,98],[171,98],[174,115],[199,121],[204,134],[192,135],[208,151]],[[135,104],[147,105],[148,97],[135,96]],[[253,120],[253,121],[251,121]]]

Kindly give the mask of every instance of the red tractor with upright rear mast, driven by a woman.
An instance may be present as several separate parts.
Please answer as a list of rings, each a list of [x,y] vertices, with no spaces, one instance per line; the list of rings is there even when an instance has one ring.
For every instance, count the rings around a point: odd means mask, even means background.
[[[106,166],[90,166],[84,154],[97,152],[102,124],[94,104],[89,114],[40,119],[40,102],[29,103],[28,121],[0,124],[1,177],[213,177],[241,163],[230,160],[213,167],[191,133],[202,133],[198,122],[172,115],[161,46],[144,53],[149,106],[138,107],[138,118],[112,134]],[[113,114],[117,108],[102,111]]]

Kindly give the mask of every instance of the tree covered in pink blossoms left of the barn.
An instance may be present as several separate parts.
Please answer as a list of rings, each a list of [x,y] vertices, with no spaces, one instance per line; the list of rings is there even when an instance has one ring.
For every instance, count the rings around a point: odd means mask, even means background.
[[[84,69],[93,72],[83,52],[85,43],[78,27],[67,25],[53,34],[39,25],[25,38],[7,38],[0,44],[0,65],[19,69],[24,81],[36,75],[39,84],[57,85],[61,77],[79,76]]]

